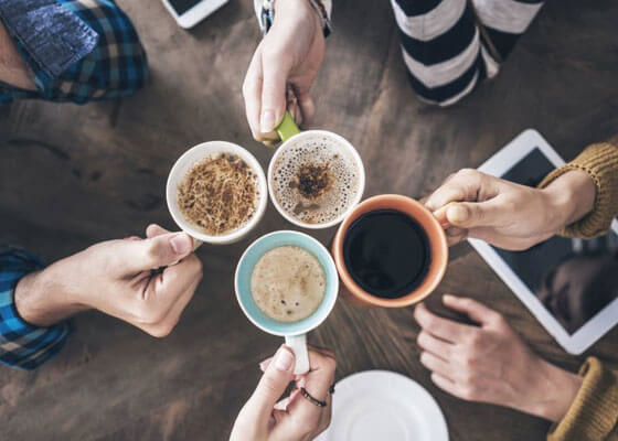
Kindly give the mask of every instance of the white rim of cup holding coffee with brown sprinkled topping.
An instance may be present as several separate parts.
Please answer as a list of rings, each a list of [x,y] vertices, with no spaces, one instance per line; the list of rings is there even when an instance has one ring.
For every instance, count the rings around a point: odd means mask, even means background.
[[[259,201],[255,211],[254,216],[241,228],[234,229],[221,236],[211,236],[205,233],[200,232],[193,225],[191,225],[178,208],[178,204],[173,203],[172,200],[175,198],[178,192],[178,184],[184,178],[185,173],[190,170],[190,165],[185,166],[185,162],[192,155],[201,155],[201,159],[207,158],[212,154],[217,154],[222,151],[230,152],[232,154],[238,155],[242,160],[247,162],[251,169],[257,175],[257,185],[259,190]],[[198,159],[192,161],[195,163],[200,161]],[[199,239],[203,243],[223,245],[232,244],[234,241],[241,240],[245,235],[247,235],[262,219],[264,213],[266,212],[266,205],[268,201],[268,185],[266,183],[266,176],[264,174],[264,169],[257,161],[257,159],[245,148],[228,141],[207,141],[199,143],[191,149],[187,150],[172,165],[170,173],[168,175],[168,181],[166,184],[166,200],[168,204],[168,211],[170,212],[172,218],[177,225],[187,234]]]

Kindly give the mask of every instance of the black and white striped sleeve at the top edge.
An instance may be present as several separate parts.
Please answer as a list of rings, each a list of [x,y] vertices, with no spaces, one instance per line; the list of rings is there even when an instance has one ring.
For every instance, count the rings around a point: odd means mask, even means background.
[[[542,0],[391,3],[412,87],[422,99],[449,106],[498,74],[500,62],[534,19]]]

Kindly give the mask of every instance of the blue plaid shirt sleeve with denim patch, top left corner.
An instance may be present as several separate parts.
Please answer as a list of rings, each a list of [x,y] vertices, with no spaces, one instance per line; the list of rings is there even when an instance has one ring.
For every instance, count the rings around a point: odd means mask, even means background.
[[[146,52],[113,0],[0,0],[0,20],[36,92],[0,83],[0,104],[22,98],[84,104],[141,88]]]

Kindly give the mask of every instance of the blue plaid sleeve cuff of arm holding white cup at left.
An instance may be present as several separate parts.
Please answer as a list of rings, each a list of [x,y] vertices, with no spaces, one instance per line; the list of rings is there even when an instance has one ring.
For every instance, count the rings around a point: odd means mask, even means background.
[[[24,322],[14,304],[14,289],[29,272],[43,268],[35,256],[18,249],[0,252],[0,362],[34,369],[53,357],[72,332],[70,322],[36,327]]]

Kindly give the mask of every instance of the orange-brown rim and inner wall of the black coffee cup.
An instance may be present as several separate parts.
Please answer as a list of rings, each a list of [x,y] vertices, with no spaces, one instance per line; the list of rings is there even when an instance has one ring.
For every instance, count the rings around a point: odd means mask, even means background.
[[[426,225],[422,223],[422,220],[415,218],[415,220],[422,225],[423,229],[425,229],[425,233],[427,234],[427,237],[429,239],[429,247],[431,249],[431,263],[428,270],[428,275],[431,272],[431,267],[435,267],[433,270],[434,275],[430,277],[430,280],[427,279],[428,282],[424,282],[419,287],[416,287],[409,293],[395,299],[384,299],[363,290],[354,281],[354,279],[348,271],[348,268],[345,267],[345,262],[343,259],[343,240],[345,238],[345,232],[350,228],[350,225],[354,220],[356,220],[361,215],[365,213],[370,213],[374,209],[388,209],[388,208],[376,207],[373,209],[364,211],[364,208],[366,208],[367,206],[372,206],[380,202],[390,202],[391,205],[393,205],[392,209],[397,209],[397,207],[395,206],[397,203],[413,205],[414,207],[420,209],[422,213],[424,213],[423,220],[427,222],[431,228],[430,232],[427,232]],[[405,214],[414,218],[414,216],[409,215],[408,213]],[[433,234],[437,235],[437,237],[431,236]],[[439,222],[431,214],[431,212],[429,212],[418,201],[399,194],[381,194],[381,195],[372,196],[363,201],[362,203],[360,203],[355,207],[355,209],[345,218],[345,220],[343,220],[343,223],[339,226],[339,229],[337,230],[332,241],[332,255],[333,255],[334,263],[337,266],[337,270],[339,272],[339,277],[341,278],[341,282],[353,297],[356,297],[361,301],[364,301],[365,303],[369,303],[374,306],[405,308],[414,303],[420,302],[422,300],[427,298],[440,283],[441,279],[444,278],[444,275],[446,273],[446,269],[448,266],[448,241],[444,228],[441,227]]]

